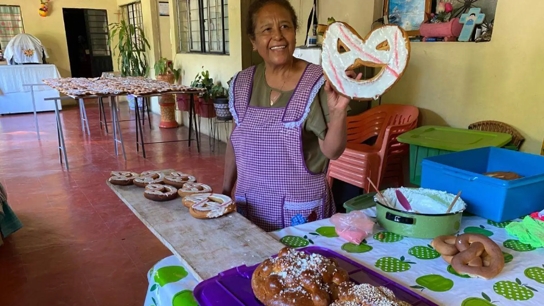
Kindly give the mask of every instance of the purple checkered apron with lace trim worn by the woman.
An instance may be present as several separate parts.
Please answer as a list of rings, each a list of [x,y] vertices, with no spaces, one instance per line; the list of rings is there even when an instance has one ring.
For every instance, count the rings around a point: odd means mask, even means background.
[[[249,106],[254,74],[246,69],[231,83],[238,212],[265,231],[329,218],[335,205],[326,172],[311,173],[302,154],[302,123],[325,82],[323,69],[307,66],[285,108]]]

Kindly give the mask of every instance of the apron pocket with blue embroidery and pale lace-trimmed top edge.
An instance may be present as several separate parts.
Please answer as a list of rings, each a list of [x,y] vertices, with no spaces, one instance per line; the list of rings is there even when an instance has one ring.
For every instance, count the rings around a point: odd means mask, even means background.
[[[310,202],[283,202],[283,227],[323,219],[323,199]]]

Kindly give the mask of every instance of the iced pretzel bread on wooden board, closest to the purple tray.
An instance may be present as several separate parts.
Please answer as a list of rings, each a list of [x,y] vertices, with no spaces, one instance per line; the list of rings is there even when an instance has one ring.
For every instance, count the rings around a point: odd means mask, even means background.
[[[189,213],[197,219],[212,219],[236,210],[234,201],[224,194],[203,193],[185,197],[183,205],[189,205]]]

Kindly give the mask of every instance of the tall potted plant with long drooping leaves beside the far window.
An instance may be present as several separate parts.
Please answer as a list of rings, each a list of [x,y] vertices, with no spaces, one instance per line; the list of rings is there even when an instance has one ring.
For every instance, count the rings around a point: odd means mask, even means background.
[[[127,23],[125,20],[121,20],[119,23],[110,23],[108,29],[108,45],[112,49],[113,56],[115,56],[116,51],[119,53],[117,65],[121,71],[121,76],[147,76],[149,65],[147,64],[146,52],[147,48],[151,47],[145,38],[144,30]],[[115,38],[117,44],[112,47],[112,39]],[[128,95],[127,100],[129,108],[134,109],[134,96]],[[138,103],[138,108],[141,108],[141,102]]]

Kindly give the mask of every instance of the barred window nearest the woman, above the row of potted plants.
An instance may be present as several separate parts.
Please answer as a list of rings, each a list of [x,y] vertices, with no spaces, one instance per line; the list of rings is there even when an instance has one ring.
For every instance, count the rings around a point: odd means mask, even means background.
[[[177,0],[179,50],[228,54],[228,0]]]

